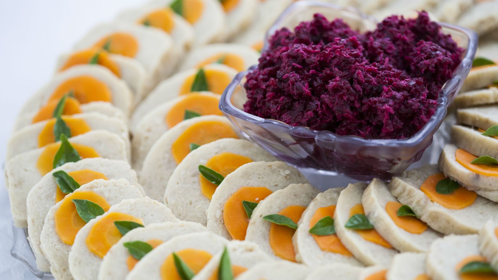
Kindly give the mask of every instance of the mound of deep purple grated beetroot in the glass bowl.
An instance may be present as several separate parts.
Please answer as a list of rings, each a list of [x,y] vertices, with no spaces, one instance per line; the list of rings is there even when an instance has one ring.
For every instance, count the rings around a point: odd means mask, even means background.
[[[434,114],[463,51],[426,12],[364,34],[315,14],[271,37],[247,75],[244,110],[338,135],[407,138]]]

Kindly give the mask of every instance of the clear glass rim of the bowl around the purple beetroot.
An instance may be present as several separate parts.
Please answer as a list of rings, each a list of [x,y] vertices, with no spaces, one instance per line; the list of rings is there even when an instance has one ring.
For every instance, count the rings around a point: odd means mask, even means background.
[[[368,19],[368,20],[373,20],[372,17],[363,14],[360,12],[358,9],[353,8],[353,7],[340,7],[331,3],[324,3],[324,2],[317,2],[317,1],[298,1],[293,4],[291,4],[289,7],[287,7],[282,14],[277,18],[275,23],[268,29],[265,40],[264,40],[264,46],[266,47],[267,45],[267,38],[271,36],[274,31],[279,29],[278,25],[280,22],[283,21],[283,19],[289,14],[293,9],[295,8],[304,8],[304,7],[310,7],[310,6],[322,6],[326,8],[334,8],[334,9],[340,9],[340,10],[347,10],[350,12],[355,12],[357,13],[361,18],[363,19]],[[373,20],[374,22],[377,22]],[[277,120],[272,120],[272,119],[263,119],[257,116],[254,116],[252,114],[246,113],[239,108],[235,107],[232,104],[232,95],[234,94],[237,86],[241,83],[242,79],[252,70],[254,70],[257,65],[253,65],[249,68],[247,71],[243,71],[238,73],[232,82],[228,85],[228,87],[225,89],[225,91],[222,94],[221,100],[220,100],[220,110],[224,112],[225,114],[231,115],[233,117],[236,117],[238,119],[242,119],[244,121],[248,121],[252,124],[258,125],[258,126],[265,126],[265,125],[273,125],[280,127],[284,130],[288,130],[289,134],[292,132],[292,134],[299,134],[301,136],[314,136],[318,140],[322,142],[334,142],[337,139],[341,139],[341,142],[349,142],[351,144],[355,145],[361,145],[361,146],[398,146],[398,147],[412,147],[418,145],[421,141],[425,140],[428,135],[433,134],[439,126],[441,125],[442,120],[446,116],[447,113],[447,107],[449,103],[452,101],[453,96],[449,96],[448,93],[453,92],[453,87],[461,87],[463,81],[462,79],[462,74],[467,75],[468,73],[464,73],[466,68],[469,65],[472,65],[472,62],[474,60],[474,56],[477,51],[477,42],[478,42],[478,35],[475,31],[468,29],[466,27],[462,27],[459,25],[447,23],[447,22],[438,22],[442,27],[448,28],[448,29],[453,29],[456,32],[460,32],[463,35],[465,35],[468,40],[468,46],[467,46],[467,51],[462,58],[462,61],[460,64],[457,66],[455,69],[454,76],[448,80],[442,87],[441,89],[441,94],[438,97],[438,106],[436,109],[436,112],[432,117],[429,119],[429,121],[413,136],[409,138],[404,138],[404,139],[364,139],[358,136],[352,136],[352,135],[336,135],[335,133],[331,131],[316,131],[312,130],[306,127],[293,127],[290,125],[287,125],[283,122],[277,121]],[[264,48],[265,48],[264,47]],[[263,49],[264,49],[263,48]],[[457,89],[457,92],[460,89]]]

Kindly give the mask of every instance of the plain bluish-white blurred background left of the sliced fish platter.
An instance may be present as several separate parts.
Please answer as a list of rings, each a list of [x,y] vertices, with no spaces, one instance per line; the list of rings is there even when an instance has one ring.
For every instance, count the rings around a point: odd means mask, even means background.
[[[0,161],[22,104],[54,73],[59,54],[92,26],[144,0],[0,0]],[[3,181],[0,179],[0,181]],[[0,183],[3,185],[3,182]],[[12,225],[0,187],[0,280],[36,279],[10,256]]]

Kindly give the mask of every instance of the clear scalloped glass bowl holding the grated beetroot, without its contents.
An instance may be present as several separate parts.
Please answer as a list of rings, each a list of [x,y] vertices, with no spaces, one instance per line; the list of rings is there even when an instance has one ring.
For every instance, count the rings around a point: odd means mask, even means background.
[[[301,21],[311,20],[314,13],[327,19],[342,18],[352,28],[365,31],[373,29],[373,18],[351,7],[339,7],[329,3],[298,1],[289,6],[270,27],[267,39],[278,29],[291,30]],[[477,49],[477,34],[467,28],[440,22],[443,32],[451,34],[457,44],[466,49],[462,62],[447,81],[438,97],[438,107],[427,124],[410,138],[400,140],[364,139],[357,136],[339,136],[330,131],[315,131],[305,127],[292,127],[283,122],[262,119],[243,111],[247,101],[244,83],[249,71],[239,73],[225,89],[220,109],[240,130],[241,134],[289,164],[321,174],[344,174],[359,180],[374,177],[388,179],[404,171],[418,161],[431,144],[434,133],[446,116],[447,107],[472,67]]]

